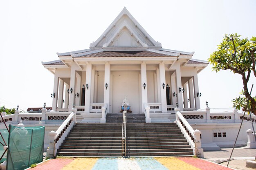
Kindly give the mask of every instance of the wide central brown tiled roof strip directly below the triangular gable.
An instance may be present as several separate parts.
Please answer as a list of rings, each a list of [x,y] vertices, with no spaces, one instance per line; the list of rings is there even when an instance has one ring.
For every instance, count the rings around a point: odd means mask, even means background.
[[[86,54],[78,57],[172,57],[174,55],[167,55],[156,53],[152,51],[102,51],[98,53]]]

